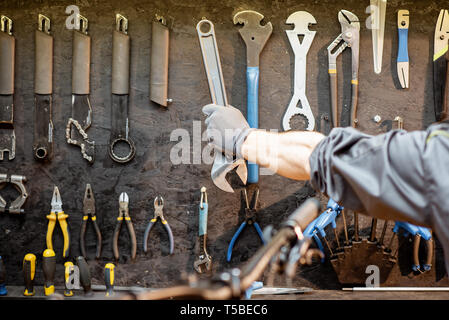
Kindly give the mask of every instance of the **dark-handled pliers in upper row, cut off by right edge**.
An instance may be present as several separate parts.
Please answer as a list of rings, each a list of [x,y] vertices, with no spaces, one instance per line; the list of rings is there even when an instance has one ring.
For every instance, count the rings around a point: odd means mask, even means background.
[[[447,87],[449,64],[449,11],[441,10],[435,26],[435,38],[433,46],[433,92],[435,103],[435,117],[437,121],[447,120],[448,95]]]

